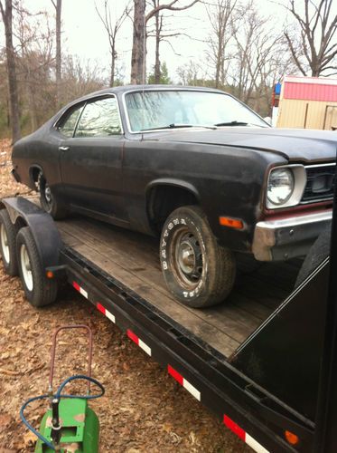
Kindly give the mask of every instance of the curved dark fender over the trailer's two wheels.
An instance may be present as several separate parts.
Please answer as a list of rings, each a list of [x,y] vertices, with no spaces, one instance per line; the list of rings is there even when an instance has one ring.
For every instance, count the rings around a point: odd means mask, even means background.
[[[53,219],[26,198],[3,198],[0,208],[6,208],[14,225],[29,226],[44,268],[59,265],[61,236]]]

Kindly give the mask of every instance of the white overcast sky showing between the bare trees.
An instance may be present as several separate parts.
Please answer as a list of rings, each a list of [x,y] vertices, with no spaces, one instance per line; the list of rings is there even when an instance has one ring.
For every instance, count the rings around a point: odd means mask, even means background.
[[[103,0],[96,0],[96,2],[94,0],[62,1],[63,52],[79,55],[81,59],[97,61],[99,67],[106,67],[108,75],[108,37],[98,18],[95,3],[98,8],[103,8]],[[126,3],[126,0],[111,0],[111,10],[118,16]],[[180,3],[186,5],[188,0],[181,0]],[[256,0],[256,4],[261,14],[272,16],[275,26],[282,28],[286,21],[284,8],[271,0]],[[29,11],[47,10],[51,16],[55,12],[51,0],[25,0],[24,5]],[[191,36],[191,38],[185,35],[171,38],[172,45],[161,44],[161,61],[167,63],[169,74],[176,81],[177,67],[190,60],[202,61],[206,46],[206,43],[202,43],[202,41],[207,40],[209,23],[204,5],[197,4],[189,10],[165,14],[170,15],[166,21],[168,30],[181,31]],[[196,38],[197,41],[193,38]],[[126,19],[117,41],[118,60],[125,67],[125,81],[128,82],[132,48],[132,22],[130,19]],[[3,33],[0,36],[0,43],[4,43]],[[147,41],[148,72],[152,70],[154,64],[153,44],[154,39],[149,38]]]

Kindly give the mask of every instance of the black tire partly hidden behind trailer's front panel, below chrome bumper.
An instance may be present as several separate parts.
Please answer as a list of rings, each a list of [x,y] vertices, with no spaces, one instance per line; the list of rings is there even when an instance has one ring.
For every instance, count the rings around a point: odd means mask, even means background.
[[[304,282],[314,270],[330,255],[331,225],[327,226],[317,237],[308,255],[305,256],[303,265],[297,275],[295,288]]]

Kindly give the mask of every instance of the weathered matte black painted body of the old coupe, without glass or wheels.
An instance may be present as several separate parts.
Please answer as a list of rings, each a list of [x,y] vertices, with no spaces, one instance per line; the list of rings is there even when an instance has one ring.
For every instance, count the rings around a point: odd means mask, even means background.
[[[15,174],[33,188],[32,169],[42,168],[51,189],[72,210],[147,234],[154,232],[148,217],[150,188],[170,186],[170,179],[175,185],[181,181],[195,194],[220,244],[249,251],[263,213],[268,169],[335,158],[336,136],[326,131],[231,127],[132,134],[127,130],[123,95],[133,90],[139,91],[139,86],[109,89],[71,102],[15,143]],[[71,106],[111,94],[117,96],[123,123],[120,137],[65,139],[54,128]],[[245,227],[239,231],[220,226],[220,216],[240,218]]]

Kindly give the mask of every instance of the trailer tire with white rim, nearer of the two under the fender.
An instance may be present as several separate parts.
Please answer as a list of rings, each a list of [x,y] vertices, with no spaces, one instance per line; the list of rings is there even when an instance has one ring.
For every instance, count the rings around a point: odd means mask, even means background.
[[[28,226],[21,228],[17,234],[16,250],[19,274],[27,300],[34,307],[52,304],[57,295],[57,282],[45,276],[37,246]]]

